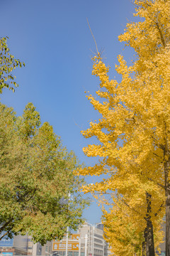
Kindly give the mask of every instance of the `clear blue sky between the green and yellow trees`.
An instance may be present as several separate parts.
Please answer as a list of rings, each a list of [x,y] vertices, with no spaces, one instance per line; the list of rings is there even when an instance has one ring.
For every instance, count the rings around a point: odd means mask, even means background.
[[[132,50],[123,50],[118,35],[128,21],[134,21],[134,11],[130,0],[1,0],[0,36],[9,37],[11,53],[26,63],[26,68],[16,71],[16,92],[4,91],[1,102],[18,115],[33,102],[41,121],[50,122],[64,146],[87,166],[96,159],[84,156],[82,148],[93,139],[84,139],[80,131],[98,114],[84,91],[93,94],[98,80],[91,75],[91,50],[96,48],[86,18],[114,76],[117,55],[132,57]],[[87,181],[95,183],[97,178]],[[100,222],[101,210],[92,203],[84,216],[90,223]]]

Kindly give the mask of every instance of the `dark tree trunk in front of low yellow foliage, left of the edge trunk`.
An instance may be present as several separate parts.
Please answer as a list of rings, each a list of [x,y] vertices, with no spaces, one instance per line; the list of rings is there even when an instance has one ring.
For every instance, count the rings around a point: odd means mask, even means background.
[[[147,196],[147,228],[145,230],[146,256],[155,256],[154,253],[154,232],[151,220],[151,195],[146,192]]]

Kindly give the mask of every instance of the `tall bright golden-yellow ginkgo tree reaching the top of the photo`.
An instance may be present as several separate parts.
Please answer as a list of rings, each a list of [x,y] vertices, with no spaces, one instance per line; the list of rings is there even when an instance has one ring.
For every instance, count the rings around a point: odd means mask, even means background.
[[[140,21],[128,23],[119,41],[135,50],[136,60],[128,65],[118,55],[115,69],[121,82],[109,79],[109,68],[100,53],[93,58],[92,74],[99,78],[100,89],[96,97],[87,97],[101,118],[90,122],[82,134],[98,139],[98,144],[84,148],[84,154],[99,156],[100,160],[95,166],[80,169],[79,174],[108,175],[93,188],[84,188],[86,192],[118,191],[125,200],[128,195],[131,206],[140,201],[146,206],[145,213],[149,200],[154,230],[159,229],[165,213],[166,256],[170,256],[170,1],[135,0],[134,4],[134,15]],[[130,190],[133,183],[137,193]],[[135,214],[130,212],[133,218]],[[154,255],[154,251],[147,255]]]

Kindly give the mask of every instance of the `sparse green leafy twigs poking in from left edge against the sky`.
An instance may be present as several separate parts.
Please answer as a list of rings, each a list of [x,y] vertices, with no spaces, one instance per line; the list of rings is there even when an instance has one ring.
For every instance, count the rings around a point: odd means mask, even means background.
[[[22,65],[25,66],[25,63],[21,63],[20,60],[15,59],[9,53],[6,38],[0,38],[0,93],[2,93],[5,87],[14,92],[14,87],[18,87],[18,84],[15,81],[16,77],[12,74],[12,71],[17,67],[21,68]]]

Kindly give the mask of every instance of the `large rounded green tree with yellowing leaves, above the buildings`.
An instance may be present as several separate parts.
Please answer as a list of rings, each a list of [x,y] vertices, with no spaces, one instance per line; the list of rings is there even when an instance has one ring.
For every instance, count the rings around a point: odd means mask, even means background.
[[[86,205],[79,193],[84,181],[73,174],[77,158],[50,124],[40,126],[32,103],[22,117],[0,104],[0,157],[0,232],[28,233],[43,245],[62,238],[67,226],[77,229]]]

